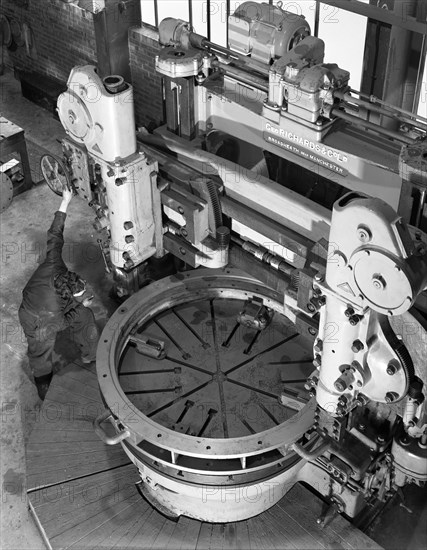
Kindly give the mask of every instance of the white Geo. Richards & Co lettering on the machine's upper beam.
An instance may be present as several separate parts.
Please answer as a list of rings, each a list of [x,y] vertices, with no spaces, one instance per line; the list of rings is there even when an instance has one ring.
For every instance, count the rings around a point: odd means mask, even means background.
[[[265,141],[315,162],[341,176],[348,174],[348,170],[343,166],[347,164],[348,157],[336,149],[326,147],[323,143],[316,143],[294,132],[274,126],[270,122],[265,125],[263,137]]]

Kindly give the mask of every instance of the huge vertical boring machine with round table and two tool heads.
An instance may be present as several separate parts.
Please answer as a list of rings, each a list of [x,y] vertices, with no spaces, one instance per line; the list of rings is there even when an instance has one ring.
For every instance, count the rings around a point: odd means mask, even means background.
[[[301,481],[355,518],[422,486],[425,121],[357,96],[280,6],[243,3],[230,48],[159,31],[166,127],[137,134],[132,86],[76,67],[42,160],[127,297],[95,431],[168,517],[242,520]]]

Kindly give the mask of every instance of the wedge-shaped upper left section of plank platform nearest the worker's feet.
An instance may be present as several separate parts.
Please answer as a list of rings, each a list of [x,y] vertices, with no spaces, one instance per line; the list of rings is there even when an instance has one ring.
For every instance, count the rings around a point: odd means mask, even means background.
[[[130,463],[119,445],[94,434],[92,422],[103,410],[93,366],[71,363],[53,377],[26,449],[27,490]]]

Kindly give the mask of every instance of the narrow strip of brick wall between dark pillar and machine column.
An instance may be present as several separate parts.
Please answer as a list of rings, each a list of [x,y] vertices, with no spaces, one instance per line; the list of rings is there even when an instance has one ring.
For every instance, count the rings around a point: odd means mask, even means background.
[[[129,51],[135,116],[138,126],[156,127],[163,123],[162,79],[154,67],[160,52],[159,34],[149,25],[129,30]]]

